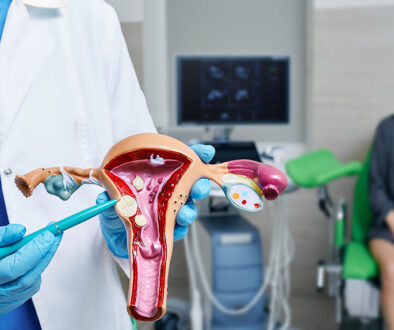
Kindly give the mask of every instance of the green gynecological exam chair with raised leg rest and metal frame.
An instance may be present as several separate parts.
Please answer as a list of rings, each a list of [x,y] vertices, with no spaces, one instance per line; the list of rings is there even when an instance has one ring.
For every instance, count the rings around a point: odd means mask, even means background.
[[[379,291],[371,284],[371,280],[376,279],[379,272],[366,244],[366,235],[372,221],[368,196],[370,162],[370,152],[364,164],[343,164],[329,150],[320,149],[292,159],[286,164],[287,174],[294,183],[303,188],[318,188],[319,207],[330,220],[329,263],[319,262],[317,288],[323,289],[324,274],[327,273],[328,293],[337,299],[336,320],[341,329],[379,329],[381,323],[380,315],[372,317],[369,309],[366,317],[360,316],[362,327],[355,325],[354,317],[350,317],[351,313],[347,310],[351,297],[346,297],[354,292],[349,290],[356,290],[356,296],[364,290],[368,297],[375,297],[368,299],[376,301],[374,308],[377,312],[374,312],[374,315],[379,313]],[[334,205],[327,188],[328,183],[345,176],[357,176],[349,241],[346,239],[346,202],[338,199]],[[368,318],[371,322],[366,322]]]

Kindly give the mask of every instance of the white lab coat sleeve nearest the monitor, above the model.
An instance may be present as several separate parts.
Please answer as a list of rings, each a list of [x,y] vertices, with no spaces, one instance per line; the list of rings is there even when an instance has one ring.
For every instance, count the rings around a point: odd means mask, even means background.
[[[119,19],[112,7],[110,40],[106,49],[107,84],[114,142],[138,133],[156,132],[145,96],[139,85]]]

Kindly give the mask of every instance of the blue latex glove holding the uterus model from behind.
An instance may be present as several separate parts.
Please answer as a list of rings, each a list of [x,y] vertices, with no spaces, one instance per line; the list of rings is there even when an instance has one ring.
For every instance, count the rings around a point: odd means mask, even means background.
[[[196,144],[191,148],[205,163],[210,162],[215,155],[215,148],[210,145]],[[200,179],[194,184],[189,199],[178,212],[174,229],[174,241],[186,236],[188,226],[197,217],[197,206],[193,199],[203,199],[209,195],[210,191],[211,184],[208,179]],[[107,193],[103,192],[97,196],[96,203],[100,204],[108,200]],[[126,230],[113,207],[100,214],[100,227],[112,253],[120,258],[128,258]]]

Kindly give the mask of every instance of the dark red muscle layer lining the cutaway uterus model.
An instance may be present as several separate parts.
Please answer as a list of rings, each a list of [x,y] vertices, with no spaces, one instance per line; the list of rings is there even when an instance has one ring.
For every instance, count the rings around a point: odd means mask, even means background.
[[[165,161],[179,161],[181,164],[174,172],[172,172],[171,176],[167,179],[165,183],[163,183],[161,191],[158,192],[157,195],[157,221],[159,225],[159,241],[160,245],[163,248],[163,253],[161,255],[161,264],[160,264],[160,279],[159,279],[159,292],[158,292],[158,299],[157,299],[157,312],[155,315],[147,317],[146,315],[140,315],[136,308],[137,303],[137,286],[138,286],[138,263],[137,263],[137,248],[138,245],[143,244],[141,239],[141,230],[143,228],[137,226],[134,222],[134,218],[136,215],[141,214],[141,209],[138,207],[137,213],[130,217],[130,224],[133,229],[133,242],[130,242],[132,248],[131,251],[133,253],[133,291],[131,294],[131,301],[129,309],[130,312],[139,320],[154,320],[157,319],[162,310],[164,293],[165,293],[165,275],[166,275],[166,260],[167,260],[167,244],[166,244],[166,237],[165,237],[165,226],[166,226],[166,212],[168,207],[168,200],[171,198],[172,193],[175,189],[175,186],[178,184],[180,179],[182,178],[183,174],[186,172],[188,167],[190,166],[191,161],[189,158],[184,156],[183,154],[168,151],[168,150],[161,150],[161,149],[139,149],[136,151],[128,152],[122,154],[113,160],[111,160],[105,167],[105,173],[108,177],[112,180],[115,186],[118,188],[121,196],[129,195],[133,198],[136,198],[135,194],[129,187],[129,185],[118,175],[116,175],[115,170],[120,166],[124,166],[125,164],[132,163],[133,161],[149,161],[151,155],[159,156],[163,158]],[[159,165],[159,166],[166,166]],[[131,173],[132,175],[132,173]],[[138,199],[137,199],[138,200]],[[151,216],[153,220],[154,217]]]

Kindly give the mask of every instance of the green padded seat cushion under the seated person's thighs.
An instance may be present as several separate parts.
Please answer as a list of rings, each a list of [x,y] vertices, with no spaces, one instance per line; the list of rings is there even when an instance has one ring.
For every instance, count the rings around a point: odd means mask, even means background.
[[[369,252],[368,246],[360,242],[350,242],[346,246],[343,277],[345,279],[371,279],[378,274],[378,265]]]

